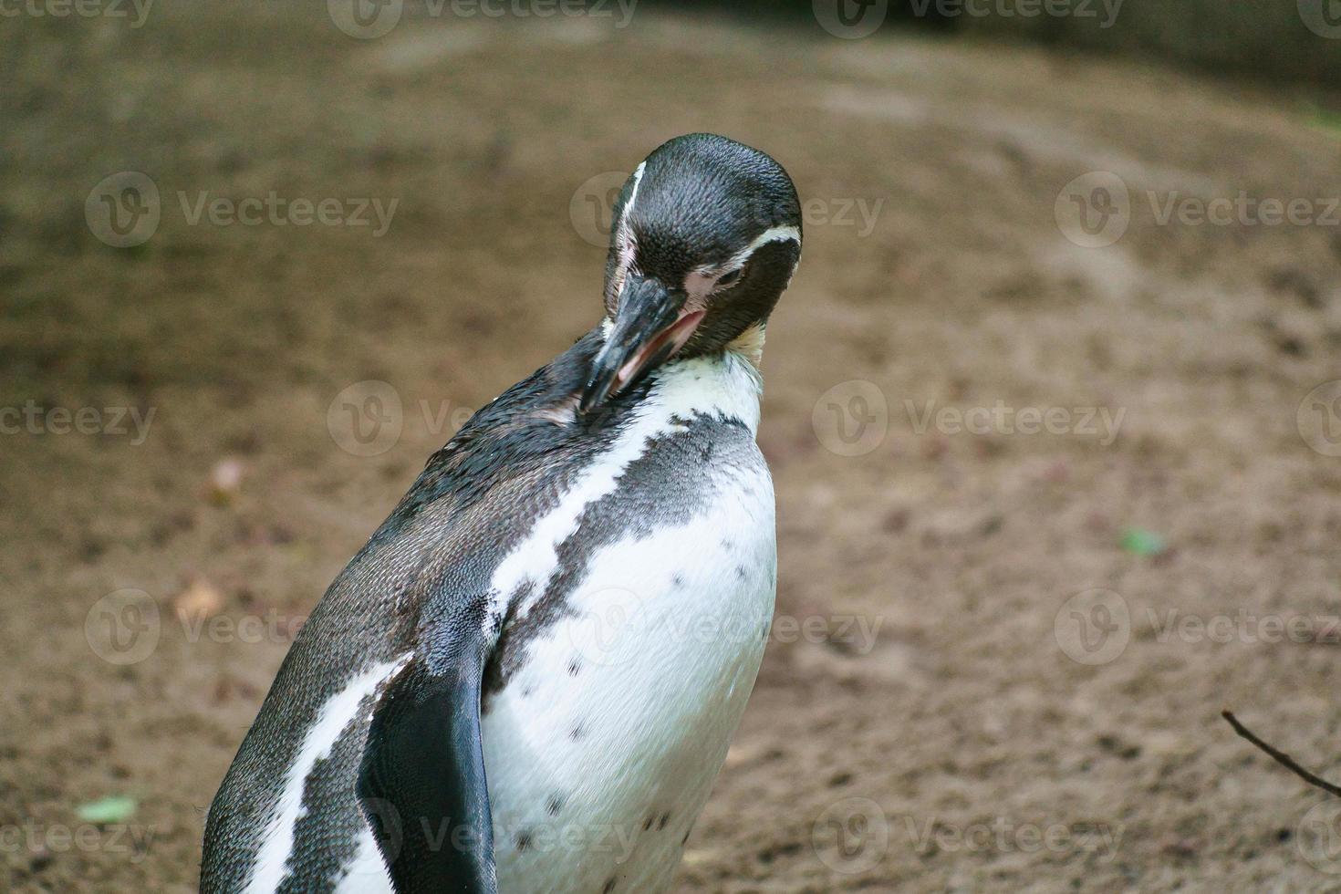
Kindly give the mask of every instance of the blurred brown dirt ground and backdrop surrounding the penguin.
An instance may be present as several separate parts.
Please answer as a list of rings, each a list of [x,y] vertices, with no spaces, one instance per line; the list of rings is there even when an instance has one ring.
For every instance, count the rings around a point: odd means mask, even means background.
[[[1341,890],[1336,0],[0,0],[0,881],[188,891],[326,584],[764,149],[779,592],[680,891]]]

